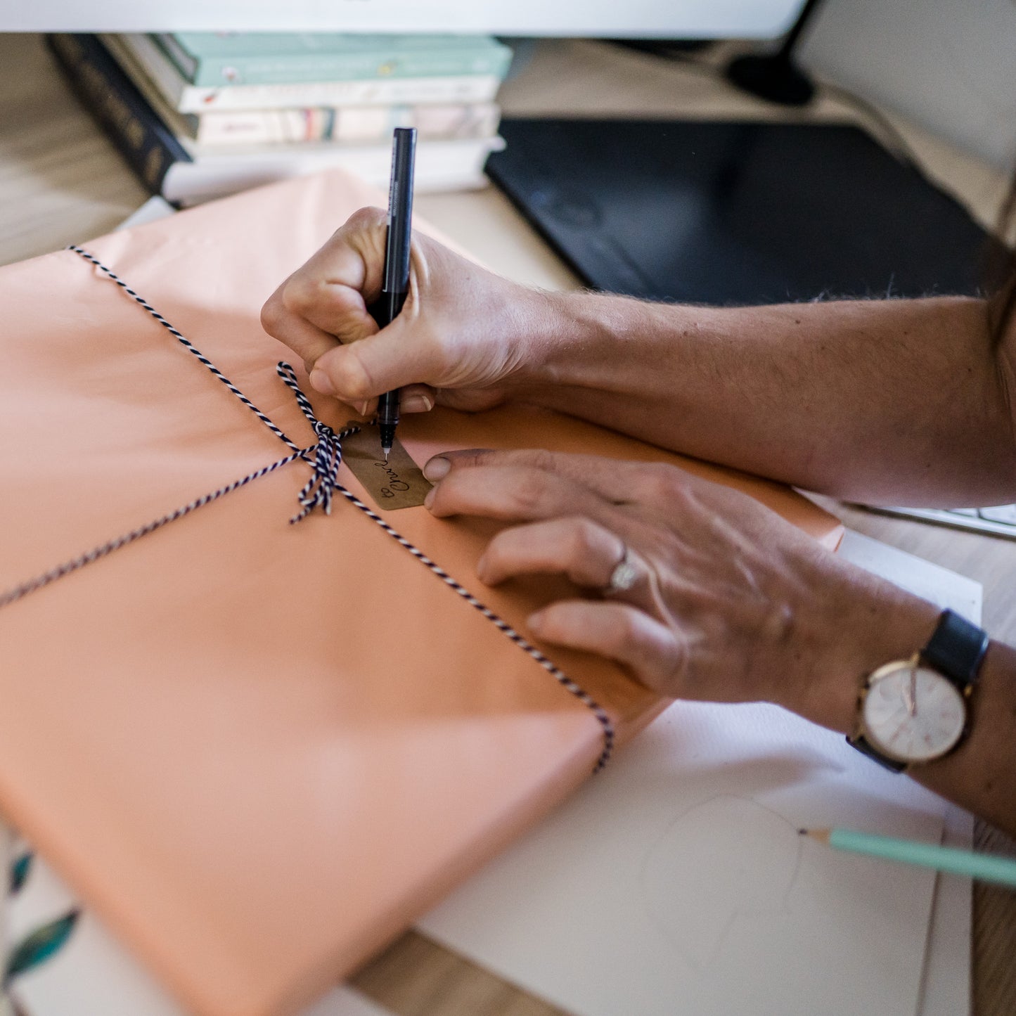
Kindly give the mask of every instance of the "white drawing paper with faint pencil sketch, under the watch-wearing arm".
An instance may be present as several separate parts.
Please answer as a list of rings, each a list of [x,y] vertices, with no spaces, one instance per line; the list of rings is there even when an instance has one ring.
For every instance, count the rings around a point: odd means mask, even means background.
[[[841,553],[979,619],[975,582],[856,533]],[[579,1016],[911,1016],[936,876],[795,830],[935,840],[944,808],[775,707],[678,703],[419,927]],[[969,893],[953,889],[941,919],[955,929],[967,913],[968,935]],[[951,971],[968,983],[964,955]],[[927,1003],[941,987],[929,980]]]

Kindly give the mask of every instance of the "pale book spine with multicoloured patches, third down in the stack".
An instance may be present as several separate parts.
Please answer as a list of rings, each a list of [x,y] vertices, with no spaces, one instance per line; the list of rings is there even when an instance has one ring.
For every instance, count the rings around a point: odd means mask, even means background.
[[[201,145],[380,144],[396,127],[415,127],[422,141],[490,137],[501,111],[493,103],[427,106],[352,106],[204,113],[195,138]]]

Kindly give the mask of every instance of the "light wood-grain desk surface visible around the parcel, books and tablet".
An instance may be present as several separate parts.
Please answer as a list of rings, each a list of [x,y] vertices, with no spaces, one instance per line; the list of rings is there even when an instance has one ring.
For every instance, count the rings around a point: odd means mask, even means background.
[[[594,43],[542,44],[501,92],[515,115],[558,114],[786,119],[784,111],[738,96],[713,75]],[[822,100],[793,119],[885,126],[843,102]],[[926,172],[990,225],[1005,181],[1000,173],[892,118]],[[68,93],[39,37],[0,35],[0,263],[98,236],[147,197],[112,145]],[[423,195],[417,208],[492,268],[533,285],[576,284],[542,240],[493,188]],[[850,527],[985,586],[985,625],[1016,643],[1016,542],[869,514],[823,503]],[[1016,844],[978,823],[985,849]],[[973,901],[973,1013],[1016,1012],[1016,894],[978,886]],[[514,986],[410,932],[369,963],[354,983],[399,1016],[546,1016],[558,1012]]]

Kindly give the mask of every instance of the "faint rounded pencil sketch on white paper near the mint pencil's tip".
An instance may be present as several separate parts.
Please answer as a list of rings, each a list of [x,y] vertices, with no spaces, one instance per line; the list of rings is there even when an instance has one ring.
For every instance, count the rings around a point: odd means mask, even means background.
[[[792,823],[756,801],[722,795],[666,827],[643,858],[639,890],[653,924],[701,971],[739,914],[784,911],[800,865]]]

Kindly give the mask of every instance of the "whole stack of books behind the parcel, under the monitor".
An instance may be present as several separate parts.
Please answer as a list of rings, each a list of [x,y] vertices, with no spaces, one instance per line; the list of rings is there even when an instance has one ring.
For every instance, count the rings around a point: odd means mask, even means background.
[[[175,204],[341,167],[387,186],[418,130],[420,192],[485,183],[511,50],[489,36],[53,35],[75,93]]]

